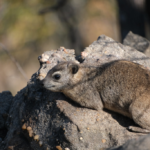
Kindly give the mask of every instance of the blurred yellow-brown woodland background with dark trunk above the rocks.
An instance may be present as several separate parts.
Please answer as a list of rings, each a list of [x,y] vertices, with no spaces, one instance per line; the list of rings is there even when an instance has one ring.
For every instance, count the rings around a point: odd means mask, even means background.
[[[25,87],[44,51],[63,46],[79,55],[101,34],[118,42],[129,31],[150,39],[149,20],[150,0],[1,0],[0,92]]]

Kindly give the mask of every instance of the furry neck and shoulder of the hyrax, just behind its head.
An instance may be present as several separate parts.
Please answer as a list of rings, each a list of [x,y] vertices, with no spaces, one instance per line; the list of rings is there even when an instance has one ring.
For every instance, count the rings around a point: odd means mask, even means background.
[[[96,75],[97,69],[95,67],[81,67],[72,77],[69,83],[71,86],[63,93],[83,107],[97,109],[96,99],[99,98],[99,93],[94,85]]]

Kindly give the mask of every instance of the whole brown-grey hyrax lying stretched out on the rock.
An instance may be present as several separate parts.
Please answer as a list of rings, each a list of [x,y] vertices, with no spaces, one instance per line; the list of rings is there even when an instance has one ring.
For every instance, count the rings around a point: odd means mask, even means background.
[[[150,130],[150,71],[119,60],[99,67],[62,62],[42,81],[83,107],[118,112]]]

